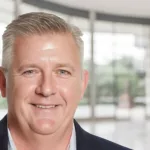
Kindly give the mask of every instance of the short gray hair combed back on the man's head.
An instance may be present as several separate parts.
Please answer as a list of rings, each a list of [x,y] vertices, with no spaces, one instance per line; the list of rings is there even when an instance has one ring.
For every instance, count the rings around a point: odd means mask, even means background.
[[[71,33],[81,55],[83,63],[84,46],[82,32],[76,26],[70,25],[62,18],[43,12],[31,12],[13,20],[3,34],[2,66],[8,70],[13,57],[13,44],[17,36],[43,35],[47,33]]]

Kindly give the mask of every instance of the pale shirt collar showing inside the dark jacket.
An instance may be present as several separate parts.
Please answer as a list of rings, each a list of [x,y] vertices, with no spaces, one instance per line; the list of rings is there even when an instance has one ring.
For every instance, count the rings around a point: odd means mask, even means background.
[[[17,150],[14,141],[12,139],[11,133],[9,131],[9,128],[7,129],[8,129],[8,139],[9,139],[8,150]],[[72,135],[68,146],[68,150],[76,150],[76,131],[74,125],[73,125],[73,130],[72,130]]]

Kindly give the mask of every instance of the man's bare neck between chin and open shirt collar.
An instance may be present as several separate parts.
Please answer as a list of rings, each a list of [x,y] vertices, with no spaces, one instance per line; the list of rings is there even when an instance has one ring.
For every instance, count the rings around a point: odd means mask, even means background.
[[[8,117],[8,128],[18,150],[67,150],[72,135],[73,121],[61,126],[55,133],[41,135],[25,130]]]

